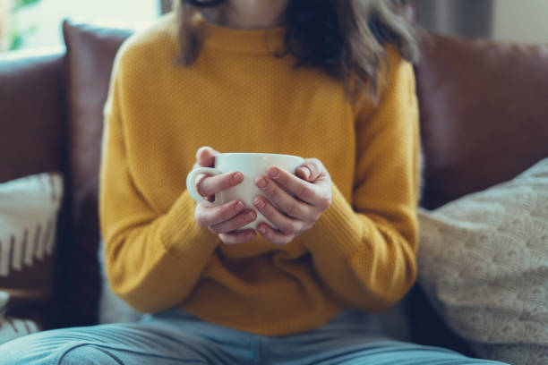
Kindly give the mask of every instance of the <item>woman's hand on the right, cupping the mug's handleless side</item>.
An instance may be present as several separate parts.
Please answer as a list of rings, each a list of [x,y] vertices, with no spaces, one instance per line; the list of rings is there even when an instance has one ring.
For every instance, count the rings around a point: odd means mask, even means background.
[[[331,204],[331,177],[320,160],[304,160],[295,174],[273,166],[267,176],[255,179],[262,193],[278,206],[263,196],[253,199],[255,208],[278,227],[274,229],[265,223],[258,226],[261,236],[275,244],[287,244],[308,231]]]

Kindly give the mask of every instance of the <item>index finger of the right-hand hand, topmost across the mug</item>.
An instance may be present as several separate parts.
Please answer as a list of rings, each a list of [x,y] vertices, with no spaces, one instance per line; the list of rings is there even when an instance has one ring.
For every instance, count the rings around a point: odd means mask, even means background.
[[[277,185],[284,187],[287,191],[293,193],[295,197],[313,207],[322,207],[323,203],[325,203],[324,198],[329,196],[328,191],[326,191],[326,188],[322,184],[316,185],[305,182],[282,168],[270,167],[268,174]],[[267,187],[265,189],[268,190],[269,188]],[[274,188],[270,187],[270,189],[273,190]],[[272,201],[278,204],[277,200],[272,199]]]

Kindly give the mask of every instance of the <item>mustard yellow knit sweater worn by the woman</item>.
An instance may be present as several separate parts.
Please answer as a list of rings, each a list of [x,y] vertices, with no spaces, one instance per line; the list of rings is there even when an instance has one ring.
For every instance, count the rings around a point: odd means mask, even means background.
[[[418,112],[412,66],[388,49],[377,106],[353,106],[320,70],[273,55],[283,29],[208,24],[190,68],[174,65],[168,14],[116,55],[105,106],[100,224],[108,279],[136,310],[181,306],[261,335],[320,327],[343,307],[378,311],[415,281]],[[196,149],[316,157],[333,199],[286,246],[224,245],[194,221]]]

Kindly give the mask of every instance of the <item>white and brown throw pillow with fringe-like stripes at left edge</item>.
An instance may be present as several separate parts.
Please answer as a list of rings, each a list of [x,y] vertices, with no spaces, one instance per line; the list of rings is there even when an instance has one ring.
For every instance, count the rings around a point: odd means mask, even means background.
[[[0,344],[43,326],[62,195],[60,174],[0,183]]]

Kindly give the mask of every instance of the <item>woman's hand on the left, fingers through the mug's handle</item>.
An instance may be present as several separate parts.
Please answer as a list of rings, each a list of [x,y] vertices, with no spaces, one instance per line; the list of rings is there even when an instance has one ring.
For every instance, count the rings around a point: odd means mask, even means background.
[[[210,147],[201,147],[196,152],[197,167],[214,167],[215,155],[218,151]],[[196,183],[198,193],[205,199],[212,201],[215,194],[225,191],[233,186],[242,183],[244,175],[239,172],[230,174],[219,174],[217,176],[202,175]],[[218,207],[202,207],[200,204],[194,210],[196,224],[207,227],[212,233],[225,244],[244,243],[253,240],[257,234],[253,229],[244,231],[235,230],[253,222],[257,214],[253,209],[246,209],[241,200],[232,200]]]

